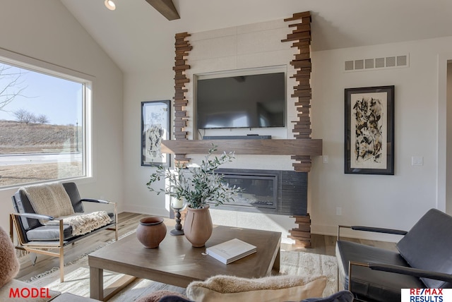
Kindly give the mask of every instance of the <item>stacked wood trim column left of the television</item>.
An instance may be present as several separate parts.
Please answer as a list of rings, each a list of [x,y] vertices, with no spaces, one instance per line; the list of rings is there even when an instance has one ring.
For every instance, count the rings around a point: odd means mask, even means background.
[[[189,56],[189,52],[193,48],[189,41],[186,40],[190,37],[187,32],[180,32],[175,35],[176,42],[174,43],[174,49],[176,56],[174,57],[174,138],[176,140],[186,140],[188,131],[186,131],[187,121],[189,116],[186,115],[186,106],[189,101],[185,97],[185,93],[188,91],[185,87],[186,83],[190,82],[190,79],[186,77],[185,71],[190,69],[190,66],[186,64],[186,57]],[[189,158],[185,155],[174,155],[176,162],[189,162]]]

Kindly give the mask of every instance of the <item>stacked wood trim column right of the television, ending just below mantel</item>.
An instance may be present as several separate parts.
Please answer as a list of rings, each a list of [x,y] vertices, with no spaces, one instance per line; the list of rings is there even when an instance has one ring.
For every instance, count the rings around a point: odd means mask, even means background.
[[[292,18],[284,19],[285,22],[301,20],[301,23],[291,23],[289,28],[293,28],[292,33],[287,35],[281,42],[292,42],[292,47],[297,47],[298,52],[295,58],[290,61],[297,72],[290,76],[295,78],[298,85],[294,86],[291,97],[296,97],[295,107],[297,109],[297,121],[294,123],[292,133],[295,139],[311,138],[311,13],[294,13]],[[297,172],[309,172],[311,170],[311,157],[309,155],[294,155],[292,164]]]

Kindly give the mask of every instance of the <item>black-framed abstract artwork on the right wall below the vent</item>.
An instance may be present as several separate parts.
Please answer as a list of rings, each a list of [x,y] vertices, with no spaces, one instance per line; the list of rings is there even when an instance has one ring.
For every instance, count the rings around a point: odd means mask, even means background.
[[[394,175],[394,86],[345,89],[345,174]]]

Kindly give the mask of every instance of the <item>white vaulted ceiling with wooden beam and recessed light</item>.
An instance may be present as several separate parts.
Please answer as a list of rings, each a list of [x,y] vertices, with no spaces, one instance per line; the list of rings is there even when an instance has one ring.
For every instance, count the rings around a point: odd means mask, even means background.
[[[145,0],[61,0],[125,73],[173,56],[174,34],[288,18],[311,11],[312,50],[452,36],[451,0],[173,0],[169,21]]]

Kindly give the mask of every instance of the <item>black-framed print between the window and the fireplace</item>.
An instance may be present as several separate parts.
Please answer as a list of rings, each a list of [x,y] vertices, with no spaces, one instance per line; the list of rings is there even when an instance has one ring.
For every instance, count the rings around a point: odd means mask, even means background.
[[[141,166],[169,167],[170,155],[162,153],[162,140],[169,140],[171,101],[141,102]]]

